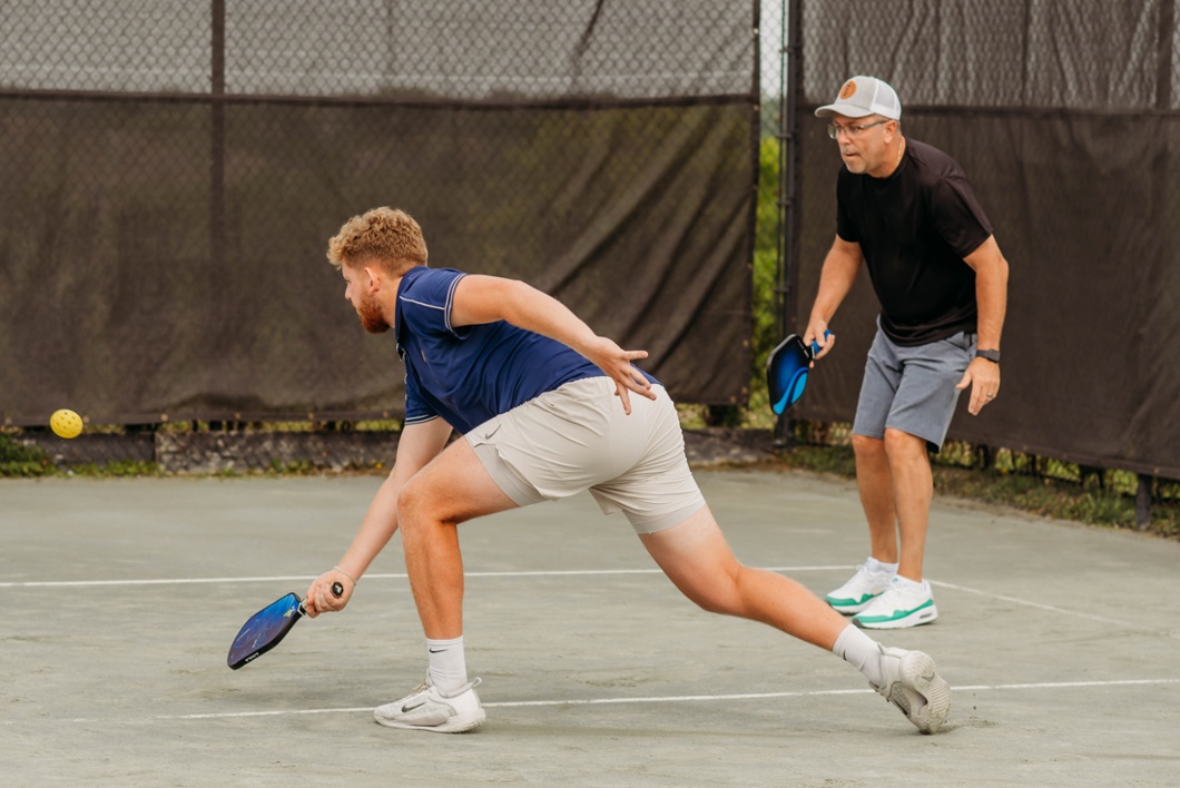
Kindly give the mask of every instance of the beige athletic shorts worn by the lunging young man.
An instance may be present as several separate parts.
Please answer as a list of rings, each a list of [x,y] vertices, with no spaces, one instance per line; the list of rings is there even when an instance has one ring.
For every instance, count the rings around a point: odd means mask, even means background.
[[[542,394],[464,438],[492,480],[519,506],[589,490],[607,514],[623,512],[637,533],[678,525],[704,506],[684,457],[676,407],[631,394],[631,414],[609,377]]]

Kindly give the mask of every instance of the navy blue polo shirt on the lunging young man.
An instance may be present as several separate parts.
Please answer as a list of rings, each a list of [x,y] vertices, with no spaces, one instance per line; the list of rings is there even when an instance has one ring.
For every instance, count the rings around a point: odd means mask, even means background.
[[[503,320],[452,327],[454,289],[464,276],[419,265],[401,278],[395,324],[406,362],[407,425],[441,416],[466,433],[564,383],[604,376],[569,346]]]

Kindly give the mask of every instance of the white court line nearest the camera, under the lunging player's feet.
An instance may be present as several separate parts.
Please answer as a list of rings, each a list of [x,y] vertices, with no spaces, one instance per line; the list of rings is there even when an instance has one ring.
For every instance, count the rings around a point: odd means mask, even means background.
[[[955,687],[955,692],[965,691],[1007,691],[1007,690],[1055,690],[1055,689],[1086,689],[1092,687],[1150,687],[1158,684],[1180,684],[1180,678],[1128,678],[1120,681],[1087,681],[1087,682],[1041,682],[1027,684],[970,684]],[[668,695],[657,697],[598,697],[598,698],[570,698],[552,701],[502,701],[498,703],[484,703],[484,708],[525,708],[525,707],[557,707],[557,705],[604,705],[624,703],[695,703],[717,701],[762,701],[774,698],[809,698],[830,697],[833,695],[866,695],[873,694],[872,689],[844,689],[844,690],[814,690],[809,692],[745,692],[740,695]],[[287,709],[282,711],[232,711],[224,714],[178,714],[144,717],[142,720],[104,720],[99,717],[78,717],[74,720],[63,720],[58,722],[78,723],[116,723],[116,722],[159,722],[182,720],[238,720],[243,717],[281,717],[290,715],[313,714],[360,714],[372,713],[372,707],[350,707],[339,709]],[[6,721],[9,722],[9,721]],[[9,722],[15,724],[15,722]]]

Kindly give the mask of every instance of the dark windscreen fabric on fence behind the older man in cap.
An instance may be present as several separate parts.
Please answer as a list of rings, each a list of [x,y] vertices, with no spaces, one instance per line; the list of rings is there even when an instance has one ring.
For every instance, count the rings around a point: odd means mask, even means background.
[[[1010,264],[1001,395],[979,416],[961,398],[950,436],[1180,478],[1173,4],[912,2],[900,27],[896,4],[804,7],[796,324],[835,235],[840,162],[812,113],[879,75],[904,133],[963,165]],[[798,418],[851,421],[878,311],[863,272]]]

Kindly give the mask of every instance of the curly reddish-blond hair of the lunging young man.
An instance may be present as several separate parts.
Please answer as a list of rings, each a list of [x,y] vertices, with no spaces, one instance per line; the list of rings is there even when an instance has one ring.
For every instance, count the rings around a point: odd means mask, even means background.
[[[402,210],[374,208],[345,222],[328,241],[328,262],[376,263],[393,275],[426,264],[426,239],[418,222]]]

